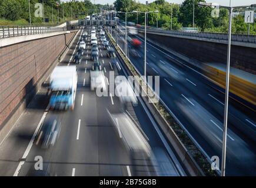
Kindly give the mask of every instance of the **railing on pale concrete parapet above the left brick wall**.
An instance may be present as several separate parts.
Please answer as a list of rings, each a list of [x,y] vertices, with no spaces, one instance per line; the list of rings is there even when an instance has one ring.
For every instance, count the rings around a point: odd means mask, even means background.
[[[65,31],[66,28],[56,26],[0,26],[0,39],[23,35],[35,35]]]

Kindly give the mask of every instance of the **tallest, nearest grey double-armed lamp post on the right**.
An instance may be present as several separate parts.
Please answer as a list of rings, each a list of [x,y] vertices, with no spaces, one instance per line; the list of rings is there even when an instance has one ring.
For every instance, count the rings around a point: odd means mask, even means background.
[[[228,55],[227,55],[227,73],[226,73],[226,88],[225,88],[225,106],[224,106],[224,125],[223,125],[223,138],[222,138],[222,159],[221,159],[221,176],[225,176],[226,170],[226,151],[227,151],[227,124],[228,124],[228,92],[230,86],[230,49],[231,49],[231,28],[232,28],[232,12],[234,9],[256,7],[254,5],[248,6],[221,6],[217,4],[198,2],[198,6],[208,6],[208,7],[220,7],[227,9],[230,12],[229,15],[229,26],[228,26]]]

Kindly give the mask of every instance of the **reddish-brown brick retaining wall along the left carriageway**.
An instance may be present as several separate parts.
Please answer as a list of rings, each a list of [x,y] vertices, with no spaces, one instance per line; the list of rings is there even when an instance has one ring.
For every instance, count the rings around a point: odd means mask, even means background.
[[[65,35],[68,43],[74,32]],[[28,92],[25,86],[34,85],[65,48],[65,35],[0,48],[0,130]]]

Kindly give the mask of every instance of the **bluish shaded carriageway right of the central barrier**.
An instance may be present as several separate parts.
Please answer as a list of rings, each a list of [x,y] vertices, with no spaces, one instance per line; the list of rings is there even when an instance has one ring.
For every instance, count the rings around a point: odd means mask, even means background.
[[[112,35],[115,38],[115,32]],[[124,46],[120,33],[118,36],[119,46]],[[142,73],[144,41],[140,36],[138,39],[142,42],[142,48],[138,48],[137,52],[142,58],[134,58],[131,53],[128,56]],[[128,43],[128,45],[130,47],[131,44]],[[186,66],[170,61],[167,55],[151,45],[147,45],[147,62],[149,75],[161,75],[160,96],[168,108],[178,117],[208,156],[221,156],[224,96],[207,85],[206,81],[202,82],[202,79],[205,80],[202,76]],[[228,122],[230,129],[227,137],[227,173],[230,175],[255,174],[255,144],[236,128],[237,125],[250,126],[245,119],[255,122],[254,113],[245,114],[241,111],[243,109],[241,105],[232,104],[231,100]]]

